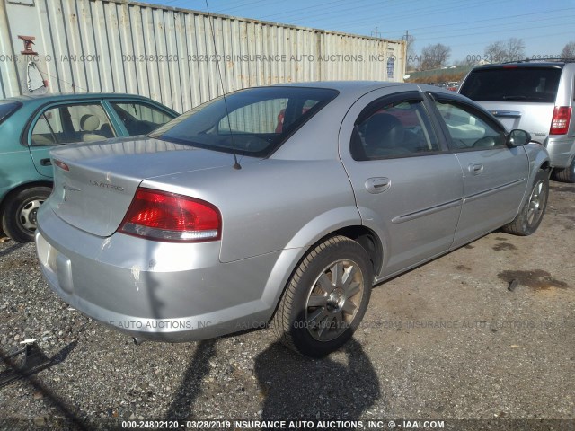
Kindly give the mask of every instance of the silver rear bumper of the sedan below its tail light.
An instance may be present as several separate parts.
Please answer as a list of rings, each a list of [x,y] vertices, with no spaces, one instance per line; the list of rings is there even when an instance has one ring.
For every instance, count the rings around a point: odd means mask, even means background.
[[[279,251],[223,264],[220,242],[97,237],[66,224],[48,206],[40,211],[39,225],[40,268],[52,290],[78,311],[131,336],[209,339],[264,325],[274,311],[264,290],[273,283]]]

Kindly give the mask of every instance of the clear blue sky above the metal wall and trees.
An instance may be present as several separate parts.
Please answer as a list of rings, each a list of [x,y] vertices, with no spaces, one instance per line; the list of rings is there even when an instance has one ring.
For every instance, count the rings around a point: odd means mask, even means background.
[[[205,0],[145,3],[206,11]],[[575,41],[575,0],[208,0],[212,13],[323,30],[401,39],[416,38],[416,54],[428,44],[452,49],[449,63],[483,55],[497,40],[520,38],[527,57],[558,56]]]

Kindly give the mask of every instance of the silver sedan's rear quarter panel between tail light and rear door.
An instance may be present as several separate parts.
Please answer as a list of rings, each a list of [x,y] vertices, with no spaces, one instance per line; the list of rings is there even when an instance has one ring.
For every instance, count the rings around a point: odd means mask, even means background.
[[[220,260],[231,262],[303,248],[326,233],[360,224],[349,180],[339,161],[261,160],[142,186],[204,199],[222,215]]]

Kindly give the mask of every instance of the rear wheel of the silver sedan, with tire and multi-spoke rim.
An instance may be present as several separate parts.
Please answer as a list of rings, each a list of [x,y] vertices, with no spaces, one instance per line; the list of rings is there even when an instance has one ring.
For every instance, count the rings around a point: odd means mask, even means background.
[[[367,310],[373,269],[367,251],[335,236],[310,251],[296,268],[273,318],[279,339],[304,356],[341,347]]]

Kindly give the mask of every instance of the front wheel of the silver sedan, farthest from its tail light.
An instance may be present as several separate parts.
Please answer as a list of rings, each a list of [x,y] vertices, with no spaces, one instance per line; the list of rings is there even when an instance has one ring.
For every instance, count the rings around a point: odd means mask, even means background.
[[[527,236],[535,233],[543,220],[547,198],[549,197],[549,175],[540,169],[526,203],[519,211],[515,220],[501,228],[503,232],[518,236]]]

